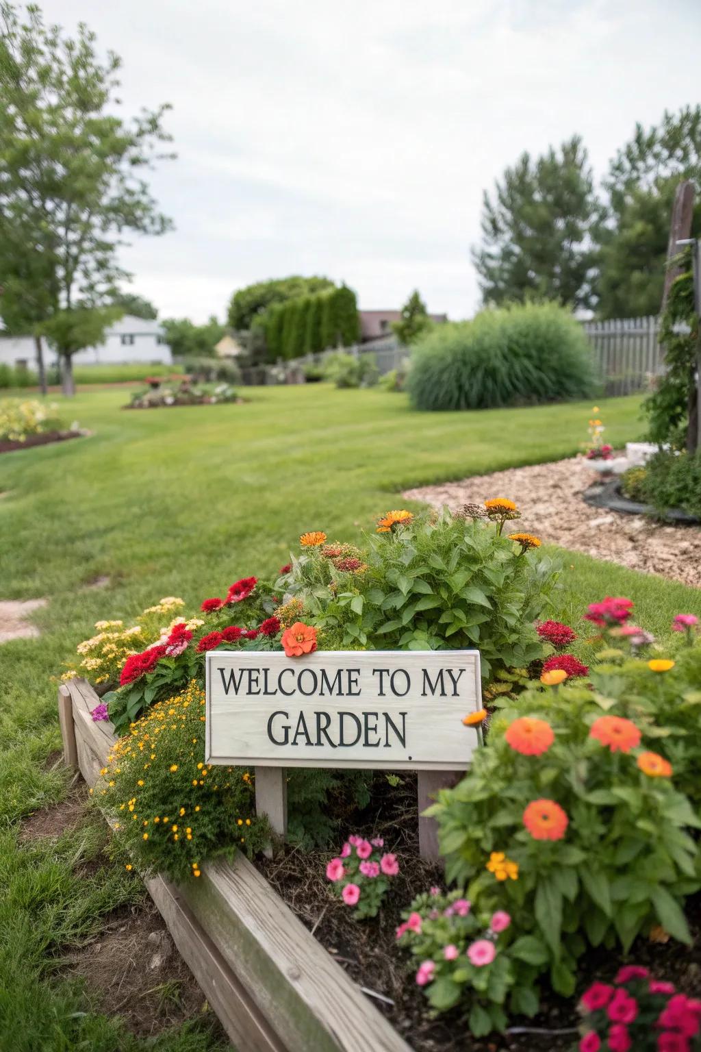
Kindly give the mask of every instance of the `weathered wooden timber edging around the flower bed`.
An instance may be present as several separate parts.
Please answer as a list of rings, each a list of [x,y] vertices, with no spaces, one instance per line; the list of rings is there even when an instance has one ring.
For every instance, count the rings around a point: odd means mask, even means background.
[[[92,720],[99,702],[85,680],[59,687],[65,761],[89,786],[117,741]],[[244,855],[146,887],[239,1052],[411,1052]]]

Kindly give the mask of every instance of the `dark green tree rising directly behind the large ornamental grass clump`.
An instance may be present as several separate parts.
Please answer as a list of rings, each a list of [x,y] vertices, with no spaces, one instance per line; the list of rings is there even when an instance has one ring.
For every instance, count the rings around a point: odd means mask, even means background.
[[[533,160],[522,154],[483,196],[481,247],[473,262],[486,303],[547,298],[587,307],[593,298],[592,229],[599,218],[581,139]]]

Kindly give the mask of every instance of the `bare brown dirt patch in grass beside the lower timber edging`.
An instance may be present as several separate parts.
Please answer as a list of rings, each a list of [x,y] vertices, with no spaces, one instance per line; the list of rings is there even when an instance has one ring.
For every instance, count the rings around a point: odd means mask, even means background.
[[[63,957],[61,974],[83,979],[140,1037],[204,1015],[226,1039],[150,899],[106,917],[98,937]]]

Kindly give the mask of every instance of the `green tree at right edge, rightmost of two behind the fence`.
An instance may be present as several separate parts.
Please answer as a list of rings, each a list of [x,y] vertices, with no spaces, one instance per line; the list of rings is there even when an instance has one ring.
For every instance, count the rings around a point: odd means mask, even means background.
[[[677,184],[701,191],[701,106],[665,110],[659,125],[636,124],[611,162],[609,195],[598,229],[601,318],[657,315],[664,286],[669,216]],[[694,228],[701,220],[697,204]]]

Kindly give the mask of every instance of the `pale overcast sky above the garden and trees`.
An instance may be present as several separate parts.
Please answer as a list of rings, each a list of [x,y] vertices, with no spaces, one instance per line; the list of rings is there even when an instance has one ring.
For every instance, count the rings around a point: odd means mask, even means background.
[[[236,287],[290,274],[469,317],[506,165],[578,133],[600,176],[636,120],[701,100],[699,0],[41,5],[122,57],[125,114],[172,103],[152,188],[177,229],[124,252],[163,317],[223,319]]]

